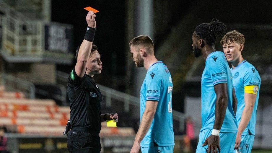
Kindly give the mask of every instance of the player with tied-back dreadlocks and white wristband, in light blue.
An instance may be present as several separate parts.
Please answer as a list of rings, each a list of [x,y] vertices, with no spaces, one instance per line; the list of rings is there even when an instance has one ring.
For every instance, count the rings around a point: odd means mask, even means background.
[[[206,61],[201,77],[202,128],[197,153],[227,153],[234,147],[232,142],[237,133],[237,121],[235,98],[232,101],[232,76],[224,53],[214,47],[217,35],[224,34],[225,30],[224,23],[213,19],[210,23],[198,25],[192,36],[194,56],[202,56]]]

